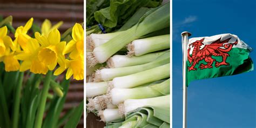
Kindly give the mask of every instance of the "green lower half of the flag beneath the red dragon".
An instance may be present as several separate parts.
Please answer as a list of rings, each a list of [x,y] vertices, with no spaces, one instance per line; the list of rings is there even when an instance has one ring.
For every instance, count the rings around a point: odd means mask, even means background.
[[[197,70],[187,70],[187,85],[189,85],[192,80],[231,76],[253,70],[253,62],[249,57],[250,51],[248,49],[233,48],[227,53],[230,55],[226,59],[226,62],[229,63],[229,65],[221,65],[218,68],[215,67],[215,63],[221,62],[223,58],[221,56],[212,56],[213,59],[216,59],[212,64],[213,68],[200,69],[199,65],[201,63],[207,64],[205,60],[201,60],[194,66]],[[192,64],[187,61],[187,66],[189,67],[191,65]]]

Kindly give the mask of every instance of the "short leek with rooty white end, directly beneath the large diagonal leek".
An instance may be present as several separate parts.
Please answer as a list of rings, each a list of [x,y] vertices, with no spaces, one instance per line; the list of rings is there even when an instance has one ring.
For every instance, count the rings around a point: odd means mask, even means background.
[[[127,56],[142,56],[146,53],[170,48],[170,35],[136,39],[127,45]]]

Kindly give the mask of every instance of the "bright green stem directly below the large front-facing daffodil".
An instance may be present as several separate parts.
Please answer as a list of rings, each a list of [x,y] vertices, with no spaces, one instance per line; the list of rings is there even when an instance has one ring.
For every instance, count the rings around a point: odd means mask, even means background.
[[[52,71],[48,71],[44,78],[44,85],[43,85],[43,90],[41,93],[41,98],[40,98],[39,106],[37,110],[35,128],[41,128],[43,123],[44,109],[45,109],[46,99],[47,99],[48,91],[50,87],[51,75],[52,75]]]

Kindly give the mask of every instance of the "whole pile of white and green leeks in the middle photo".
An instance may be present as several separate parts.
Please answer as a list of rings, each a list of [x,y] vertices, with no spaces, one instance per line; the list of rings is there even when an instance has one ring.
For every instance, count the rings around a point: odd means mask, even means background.
[[[169,27],[169,9],[149,10],[125,31],[87,37],[86,107],[106,127],[170,127],[170,35],[152,34]]]

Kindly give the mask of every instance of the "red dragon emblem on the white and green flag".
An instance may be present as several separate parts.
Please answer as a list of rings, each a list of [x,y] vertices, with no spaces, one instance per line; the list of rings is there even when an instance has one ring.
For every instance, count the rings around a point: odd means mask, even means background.
[[[237,45],[238,41],[235,41],[234,43],[228,43],[231,38],[225,39],[224,41],[220,41],[220,38],[217,39],[217,41],[205,45],[203,49],[200,49],[200,46],[204,45],[204,39],[201,39],[199,41],[193,42],[188,46],[187,50],[187,59],[192,64],[190,67],[188,67],[188,71],[191,70],[197,70],[194,68],[196,64],[198,64],[201,60],[205,60],[207,64],[201,63],[198,68],[200,69],[207,69],[207,68],[213,68],[212,64],[215,61],[215,67],[219,67],[221,65],[229,65],[226,62],[226,59],[228,56],[230,56],[228,53],[233,45]],[[225,44],[226,43],[226,44]],[[192,51],[192,55],[190,55],[190,46],[194,47]],[[222,62],[217,62],[215,59],[212,58],[212,56],[221,56],[223,59]]]

